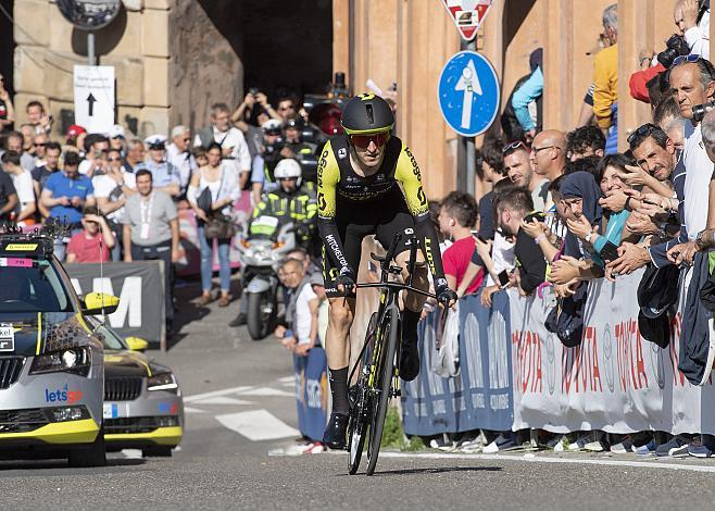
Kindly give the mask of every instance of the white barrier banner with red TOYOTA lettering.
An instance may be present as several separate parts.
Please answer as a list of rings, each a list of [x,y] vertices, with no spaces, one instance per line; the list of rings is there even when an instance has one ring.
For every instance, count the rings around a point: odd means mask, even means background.
[[[712,381],[695,387],[677,370],[688,281],[672,321],[670,345],[663,350],[638,329],[635,294],[641,276],[639,271],[615,284],[589,283],[584,340],[576,348],[565,348],[547,332],[543,300],[509,291],[515,431],[715,433]]]

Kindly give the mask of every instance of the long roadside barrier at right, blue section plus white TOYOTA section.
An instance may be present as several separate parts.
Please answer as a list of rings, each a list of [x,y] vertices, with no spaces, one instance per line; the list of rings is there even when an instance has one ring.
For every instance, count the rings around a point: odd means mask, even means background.
[[[636,272],[615,284],[589,283],[584,339],[576,348],[565,348],[545,329],[549,309],[542,299],[520,298],[513,289],[499,292],[489,315],[476,297],[463,298],[462,373],[455,378],[439,378],[429,371],[436,354],[436,316],[430,315],[419,328],[421,376],[406,384],[403,392],[405,432],[427,436],[480,427],[715,434],[712,378],[695,387],[677,370],[688,279],[672,322],[670,345],[661,349],[638,331],[636,289],[641,276],[642,272]],[[494,312],[501,307],[505,310]],[[502,333],[510,345],[509,388],[493,385],[502,382]],[[480,377],[489,385],[481,385]],[[480,395],[485,407],[471,409],[480,402]],[[492,401],[510,402],[509,423],[503,410],[489,407]]]

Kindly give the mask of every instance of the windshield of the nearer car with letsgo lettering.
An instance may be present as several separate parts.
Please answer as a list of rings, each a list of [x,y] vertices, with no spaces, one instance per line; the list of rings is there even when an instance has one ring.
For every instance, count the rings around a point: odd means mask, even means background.
[[[0,258],[0,312],[68,312],[70,297],[50,261]]]

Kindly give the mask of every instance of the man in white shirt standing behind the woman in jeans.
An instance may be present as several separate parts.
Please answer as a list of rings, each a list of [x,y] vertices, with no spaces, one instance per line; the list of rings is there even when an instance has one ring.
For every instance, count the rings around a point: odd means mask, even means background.
[[[241,189],[251,173],[251,154],[240,129],[230,125],[230,111],[225,103],[211,107],[211,125],[199,130],[193,139],[193,147],[208,149],[211,142],[221,145],[224,159],[234,160],[240,174]]]

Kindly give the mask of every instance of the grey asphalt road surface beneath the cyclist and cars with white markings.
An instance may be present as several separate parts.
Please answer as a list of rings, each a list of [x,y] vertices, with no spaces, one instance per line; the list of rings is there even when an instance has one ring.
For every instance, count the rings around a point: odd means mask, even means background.
[[[171,459],[111,454],[102,469],[63,461],[0,462],[0,509],[712,509],[715,462],[635,456],[380,456],[377,472],[347,475],[347,453],[269,456],[290,449],[292,371],[275,340],[229,328],[237,302],[200,310],[181,300],[167,353],[187,404]],[[269,439],[261,439],[269,437]]]

